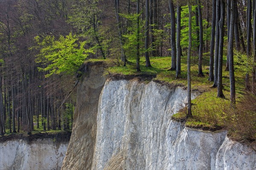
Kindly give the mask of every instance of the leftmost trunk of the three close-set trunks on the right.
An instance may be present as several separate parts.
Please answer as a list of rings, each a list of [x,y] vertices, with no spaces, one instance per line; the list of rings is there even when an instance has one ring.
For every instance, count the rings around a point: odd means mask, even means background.
[[[216,0],[212,0],[212,33],[211,33],[211,49],[209,63],[209,81],[214,80],[213,65],[214,65],[214,43],[215,43],[215,25],[216,25]]]

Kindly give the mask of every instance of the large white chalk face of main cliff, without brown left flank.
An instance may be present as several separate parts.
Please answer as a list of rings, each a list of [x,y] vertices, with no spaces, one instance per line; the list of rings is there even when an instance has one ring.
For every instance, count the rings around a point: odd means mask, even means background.
[[[193,130],[171,120],[186,96],[180,87],[156,82],[106,81],[91,169],[255,169],[256,153],[230,141],[226,131]]]

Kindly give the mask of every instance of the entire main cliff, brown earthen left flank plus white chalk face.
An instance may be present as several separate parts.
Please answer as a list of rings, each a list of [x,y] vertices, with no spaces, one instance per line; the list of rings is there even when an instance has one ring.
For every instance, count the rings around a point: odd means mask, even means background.
[[[102,72],[91,67],[81,79],[63,170],[256,169],[256,153],[226,131],[171,120],[186,104],[182,87],[106,79]]]

